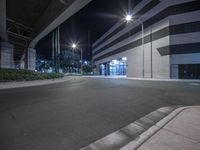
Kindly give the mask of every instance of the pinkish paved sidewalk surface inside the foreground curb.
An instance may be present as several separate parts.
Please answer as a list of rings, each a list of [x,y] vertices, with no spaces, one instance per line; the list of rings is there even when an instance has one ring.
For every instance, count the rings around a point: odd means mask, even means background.
[[[183,110],[138,150],[200,150],[200,107]]]

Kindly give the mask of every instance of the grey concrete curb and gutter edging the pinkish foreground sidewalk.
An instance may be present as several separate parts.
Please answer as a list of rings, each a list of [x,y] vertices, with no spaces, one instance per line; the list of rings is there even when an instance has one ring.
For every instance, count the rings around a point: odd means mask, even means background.
[[[135,150],[187,108],[190,106],[159,108],[80,150]]]

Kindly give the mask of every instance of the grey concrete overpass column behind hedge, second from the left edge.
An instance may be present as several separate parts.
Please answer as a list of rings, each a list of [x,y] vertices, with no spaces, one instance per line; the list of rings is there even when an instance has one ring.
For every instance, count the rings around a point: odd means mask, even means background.
[[[36,50],[33,48],[28,48],[28,70],[35,71],[36,69]]]

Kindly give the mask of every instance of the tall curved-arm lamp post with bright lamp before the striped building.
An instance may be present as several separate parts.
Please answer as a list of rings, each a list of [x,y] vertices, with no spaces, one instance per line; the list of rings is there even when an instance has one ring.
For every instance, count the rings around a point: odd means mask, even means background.
[[[125,20],[127,23],[131,22],[133,20],[132,15],[127,14]],[[142,77],[144,78],[144,24],[140,19],[137,19],[136,21],[142,26]]]

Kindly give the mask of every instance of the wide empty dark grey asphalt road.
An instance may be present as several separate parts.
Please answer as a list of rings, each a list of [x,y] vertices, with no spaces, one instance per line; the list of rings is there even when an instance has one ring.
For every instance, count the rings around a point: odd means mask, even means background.
[[[77,150],[169,105],[200,105],[200,85],[78,78],[0,90],[0,150]]]

